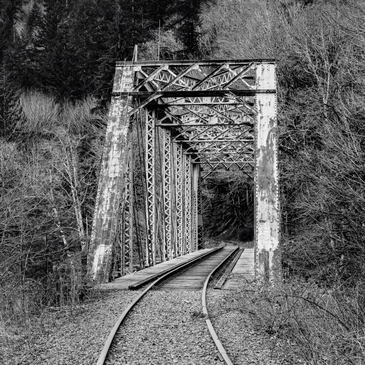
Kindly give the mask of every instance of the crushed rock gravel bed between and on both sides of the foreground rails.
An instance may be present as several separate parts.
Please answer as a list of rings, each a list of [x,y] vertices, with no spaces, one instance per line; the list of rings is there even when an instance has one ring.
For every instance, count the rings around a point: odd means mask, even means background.
[[[93,365],[119,315],[138,291],[104,292],[69,311],[46,313],[41,331],[21,344],[0,344],[4,365]],[[251,324],[246,312],[226,311],[224,291],[208,289],[208,313],[235,365],[300,364],[287,343]],[[201,291],[151,291],[128,314],[108,365],[222,364],[204,320]]]

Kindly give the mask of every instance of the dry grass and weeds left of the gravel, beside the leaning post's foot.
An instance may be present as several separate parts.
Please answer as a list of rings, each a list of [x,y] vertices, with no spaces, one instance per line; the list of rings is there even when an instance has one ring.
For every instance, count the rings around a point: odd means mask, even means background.
[[[81,255],[65,260],[41,280],[8,273],[0,277],[0,342],[28,342],[43,331],[46,314],[80,310],[82,300],[99,295],[92,291]],[[21,284],[19,284],[21,283]]]

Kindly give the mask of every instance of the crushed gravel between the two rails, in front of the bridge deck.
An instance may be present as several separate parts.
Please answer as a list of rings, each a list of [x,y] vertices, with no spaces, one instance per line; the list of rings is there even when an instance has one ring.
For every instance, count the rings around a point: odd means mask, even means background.
[[[105,364],[220,364],[216,353],[201,291],[151,291],[120,326]]]

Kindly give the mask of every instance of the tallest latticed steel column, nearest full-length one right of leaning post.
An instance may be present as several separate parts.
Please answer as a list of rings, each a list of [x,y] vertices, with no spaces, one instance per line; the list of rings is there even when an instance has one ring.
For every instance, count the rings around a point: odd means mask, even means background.
[[[146,109],[146,265],[155,265],[155,110]]]

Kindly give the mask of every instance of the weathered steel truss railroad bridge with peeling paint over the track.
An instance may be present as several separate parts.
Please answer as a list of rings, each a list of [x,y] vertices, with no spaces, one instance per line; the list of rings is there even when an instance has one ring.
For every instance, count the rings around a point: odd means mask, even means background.
[[[93,278],[106,283],[117,266],[122,275],[132,271],[131,125],[141,116],[146,265],[156,263],[157,219],[163,261],[204,248],[202,179],[238,171],[254,179],[256,274],[280,274],[274,60],[133,61],[116,64],[88,256]],[[163,130],[158,189],[157,128]]]

